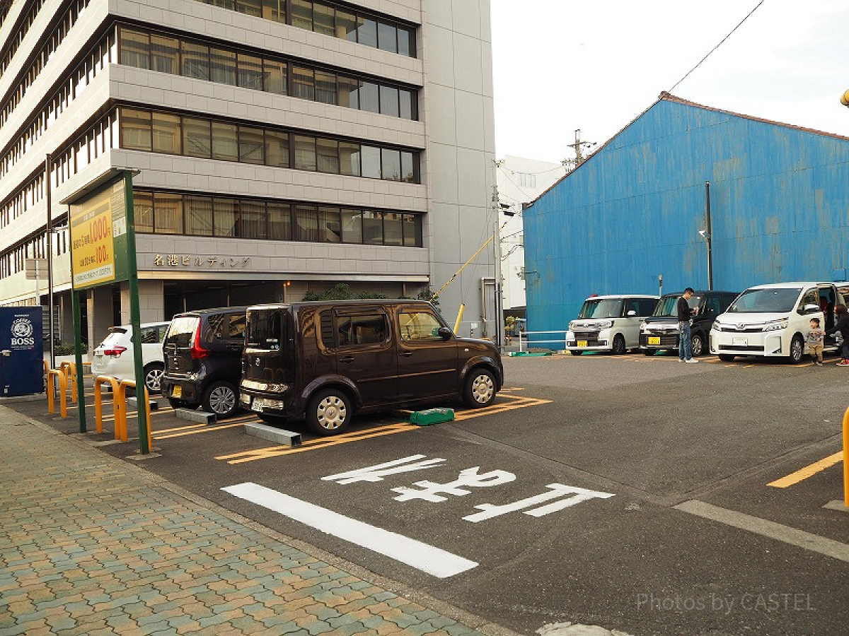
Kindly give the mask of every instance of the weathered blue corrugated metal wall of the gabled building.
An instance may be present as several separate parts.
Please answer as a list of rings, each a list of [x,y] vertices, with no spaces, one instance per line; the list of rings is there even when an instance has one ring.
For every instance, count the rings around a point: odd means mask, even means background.
[[[832,280],[849,266],[849,141],[661,99],[524,212],[530,331],[592,293]]]

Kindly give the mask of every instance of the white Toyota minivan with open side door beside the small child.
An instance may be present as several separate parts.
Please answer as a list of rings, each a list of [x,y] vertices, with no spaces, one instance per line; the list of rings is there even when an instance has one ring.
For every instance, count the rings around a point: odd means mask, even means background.
[[[832,282],[776,282],[741,293],[711,327],[711,354],[720,360],[735,356],[783,357],[800,362],[811,319],[828,329],[835,324],[835,305],[846,304]],[[824,351],[838,342],[825,338]]]

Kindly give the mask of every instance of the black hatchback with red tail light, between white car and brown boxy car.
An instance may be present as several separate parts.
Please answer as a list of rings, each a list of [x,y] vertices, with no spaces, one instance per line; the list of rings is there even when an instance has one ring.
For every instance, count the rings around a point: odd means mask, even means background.
[[[175,409],[227,417],[239,408],[247,307],[187,311],[171,320],[162,343],[162,394]]]

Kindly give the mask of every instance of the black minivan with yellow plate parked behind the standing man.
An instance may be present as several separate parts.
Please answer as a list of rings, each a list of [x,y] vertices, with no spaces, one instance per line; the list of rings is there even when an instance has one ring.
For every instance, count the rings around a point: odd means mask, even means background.
[[[654,355],[661,349],[678,350],[678,298],[681,296],[683,292],[664,294],[655,312],[640,325],[639,348],[644,354]],[[707,352],[713,321],[738,296],[737,292],[697,291],[690,297],[690,310],[695,310],[690,319],[693,357]]]

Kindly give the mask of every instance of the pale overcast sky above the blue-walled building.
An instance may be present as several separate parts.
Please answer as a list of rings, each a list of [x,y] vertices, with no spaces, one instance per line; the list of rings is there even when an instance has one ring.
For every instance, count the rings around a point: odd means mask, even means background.
[[[491,0],[496,157],[559,162],[662,91],[849,137],[849,0]]]

